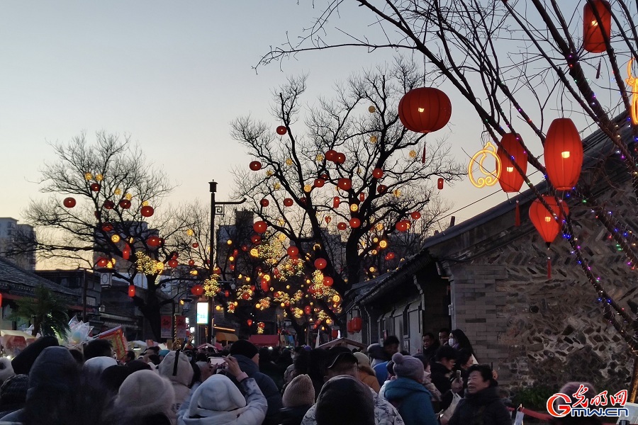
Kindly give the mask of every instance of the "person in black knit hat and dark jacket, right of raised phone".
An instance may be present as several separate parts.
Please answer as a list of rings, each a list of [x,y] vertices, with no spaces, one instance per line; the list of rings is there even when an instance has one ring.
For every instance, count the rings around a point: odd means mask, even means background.
[[[268,412],[263,425],[278,425],[279,409],[283,407],[281,393],[271,378],[259,372],[259,350],[257,350],[257,347],[245,339],[240,339],[230,346],[230,355],[237,359],[240,368],[248,377],[257,382],[259,390],[266,397]],[[238,383],[237,387],[240,387]]]

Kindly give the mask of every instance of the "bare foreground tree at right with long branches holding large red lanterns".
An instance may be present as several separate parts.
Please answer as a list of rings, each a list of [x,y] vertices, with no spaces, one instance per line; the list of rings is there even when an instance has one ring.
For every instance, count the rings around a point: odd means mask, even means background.
[[[360,6],[358,13],[369,17],[370,33],[330,30],[328,23],[340,16],[337,12],[350,6]],[[614,188],[615,200],[632,204],[638,193],[636,7],[635,1],[624,0],[578,4],[558,0],[327,1],[298,42],[272,49],[260,64],[298,52],[343,46],[369,51],[392,47],[422,55],[425,85],[452,87],[474,109],[491,142],[507,160],[503,167],[516,171],[522,176],[521,183],[535,192],[537,203],[530,216],[539,211],[539,221],[549,217],[550,226],[556,223],[556,232],[552,229],[544,237],[552,239],[562,232],[594,289],[603,317],[636,356],[638,309],[631,300],[612,295],[613,281],[598,277],[605,270],[596,270],[583,251],[588,234],[578,230],[566,208],[568,200],[572,208],[591,208],[622,253],[623,263],[632,270],[638,265],[638,229],[631,220],[634,212],[614,213],[600,199],[608,193],[605,186]],[[578,121],[581,132],[598,129],[608,137],[598,157],[586,160],[581,176],[582,142],[578,130],[573,136],[576,127],[566,123],[568,116]],[[571,140],[565,136],[568,133]],[[514,137],[515,142],[508,144],[503,142],[508,134],[525,136]],[[530,151],[532,140],[542,145],[544,164],[539,161],[540,152]],[[519,149],[525,152],[524,159],[523,154],[513,153]],[[528,179],[527,162],[547,176],[549,196],[539,193]],[[561,181],[564,176],[559,174],[567,168],[574,169],[575,180],[572,175]],[[627,184],[615,186],[619,181]],[[514,188],[518,190],[520,186]],[[632,399],[638,394],[636,378],[638,373],[634,373]]]

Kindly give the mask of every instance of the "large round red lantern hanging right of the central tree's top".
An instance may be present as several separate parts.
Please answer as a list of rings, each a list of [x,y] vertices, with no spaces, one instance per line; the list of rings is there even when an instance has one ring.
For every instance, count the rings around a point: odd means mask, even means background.
[[[406,93],[399,101],[398,115],[403,127],[428,133],[442,129],[452,116],[452,103],[439,89],[420,87]]]

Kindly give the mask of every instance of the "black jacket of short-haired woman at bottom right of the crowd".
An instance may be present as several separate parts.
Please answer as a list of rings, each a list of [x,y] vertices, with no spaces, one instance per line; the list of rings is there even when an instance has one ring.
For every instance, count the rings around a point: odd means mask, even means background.
[[[512,415],[496,393],[488,387],[476,394],[467,394],[459,401],[448,425],[511,425]]]

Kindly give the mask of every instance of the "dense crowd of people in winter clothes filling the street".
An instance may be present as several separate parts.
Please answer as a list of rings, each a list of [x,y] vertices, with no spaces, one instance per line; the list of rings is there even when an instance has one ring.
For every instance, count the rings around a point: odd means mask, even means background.
[[[149,347],[120,362],[103,339],[79,350],[43,337],[0,359],[0,425],[512,424],[498,375],[463,331],[422,341],[412,356],[388,336],[365,351],[239,340],[221,353]]]

